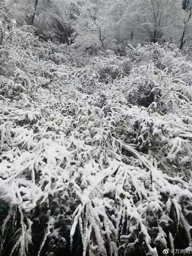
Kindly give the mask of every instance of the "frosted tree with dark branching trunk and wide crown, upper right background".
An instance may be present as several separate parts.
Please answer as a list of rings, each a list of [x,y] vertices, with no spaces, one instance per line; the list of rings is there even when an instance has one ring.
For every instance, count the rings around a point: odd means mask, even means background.
[[[132,36],[138,41],[143,42],[163,42],[171,41],[178,43],[177,30],[181,26],[179,17],[182,15],[181,4],[173,0],[139,0],[128,1],[127,7],[119,19],[120,24],[134,28]],[[124,36],[131,34],[129,30]],[[123,36],[122,34],[122,36]],[[125,38],[125,37],[124,37]]]

